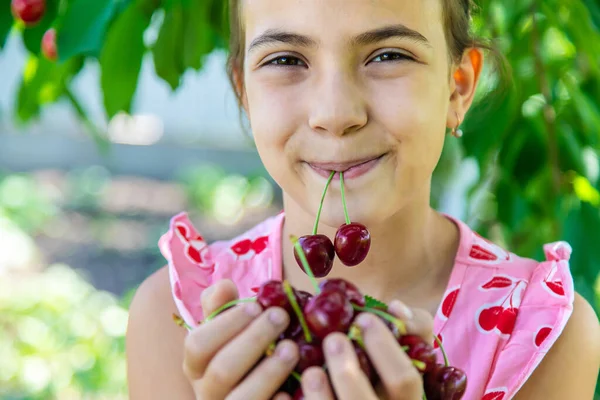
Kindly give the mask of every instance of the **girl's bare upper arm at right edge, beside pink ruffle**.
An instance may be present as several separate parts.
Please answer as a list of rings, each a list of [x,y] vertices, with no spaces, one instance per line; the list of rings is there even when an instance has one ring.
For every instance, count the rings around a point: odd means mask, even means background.
[[[600,368],[600,324],[592,306],[576,294],[562,334],[518,392],[518,400],[591,399]]]

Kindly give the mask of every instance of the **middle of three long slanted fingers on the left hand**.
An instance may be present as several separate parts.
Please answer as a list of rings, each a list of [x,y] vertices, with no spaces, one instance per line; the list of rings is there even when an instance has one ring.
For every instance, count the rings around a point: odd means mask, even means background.
[[[252,303],[251,303],[252,304]],[[229,393],[265,354],[289,324],[288,313],[272,307],[256,318],[241,334],[225,345],[209,362],[203,385],[206,398],[219,399]]]

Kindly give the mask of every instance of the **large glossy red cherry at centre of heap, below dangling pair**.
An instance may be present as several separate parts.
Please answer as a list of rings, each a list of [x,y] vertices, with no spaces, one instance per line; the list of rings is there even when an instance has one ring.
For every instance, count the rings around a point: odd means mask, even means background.
[[[354,317],[352,304],[338,290],[324,290],[304,307],[306,324],[316,337],[324,339],[332,332],[348,332]]]

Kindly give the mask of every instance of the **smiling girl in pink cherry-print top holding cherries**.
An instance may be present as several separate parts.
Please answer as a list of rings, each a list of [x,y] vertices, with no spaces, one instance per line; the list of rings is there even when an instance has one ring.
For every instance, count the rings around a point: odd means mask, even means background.
[[[543,262],[520,258],[429,204],[445,130],[460,136],[482,68],[469,11],[467,0],[231,0],[229,71],[284,212],[211,245],[186,214],[173,218],[159,243],[168,266],[131,305],[132,399],[290,398],[277,390],[298,360],[294,343],[253,368],[289,323],[282,309],[249,303],[198,321],[268,280],[310,291],[287,238],[310,233],[332,172],[319,233],[333,238],[345,222],[343,172],[347,209],[372,245],[358,266],[336,259],[328,278],[391,303],[413,333],[437,335],[467,374],[465,399],[592,398],[600,329],[573,290],[569,245],[546,245]],[[331,334],[331,380],[306,370],[306,399],[422,398],[421,376],[370,317],[358,323],[380,393],[348,339]]]

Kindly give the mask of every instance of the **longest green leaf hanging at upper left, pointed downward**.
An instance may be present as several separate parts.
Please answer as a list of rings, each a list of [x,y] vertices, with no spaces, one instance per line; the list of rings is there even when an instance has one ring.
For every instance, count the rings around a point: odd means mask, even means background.
[[[110,27],[100,53],[100,83],[109,118],[130,112],[146,47],[144,32],[150,16],[130,4]]]

